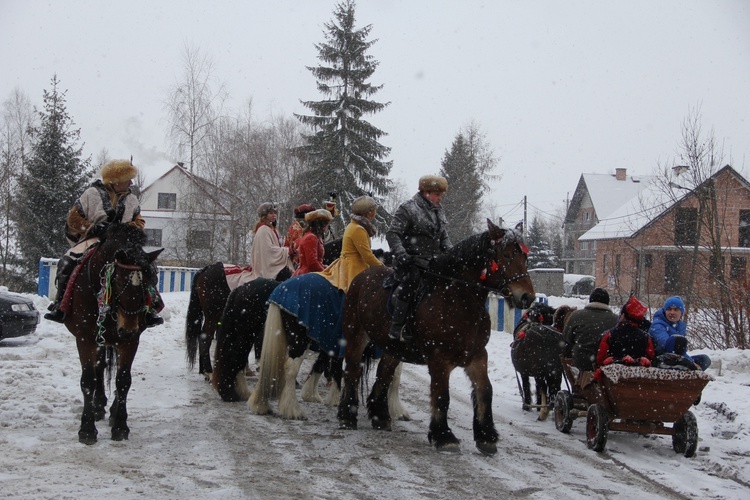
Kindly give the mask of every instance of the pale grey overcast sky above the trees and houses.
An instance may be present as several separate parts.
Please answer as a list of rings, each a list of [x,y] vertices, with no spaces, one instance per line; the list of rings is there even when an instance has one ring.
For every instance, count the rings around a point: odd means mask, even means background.
[[[230,94],[254,114],[307,113],[306,66],[333,0],[0,0],[0,100],[15,87],[37,105],[57,74],[85,152],[162,173],[164,101],[183,47],[213,58]],[[670,163],[683,120],[700,107],[743,175],[750,162],[750,2],[360,0],[373,26],[371,83],[390,101],[368,117],[388,136],[391,176],[416,191],[474,121],[500,158],[491,197],[509,222],[553,212],[581,173]],[[168,162],[167,162],[168,160]],[[449,193],[450,194],[450,193]]]

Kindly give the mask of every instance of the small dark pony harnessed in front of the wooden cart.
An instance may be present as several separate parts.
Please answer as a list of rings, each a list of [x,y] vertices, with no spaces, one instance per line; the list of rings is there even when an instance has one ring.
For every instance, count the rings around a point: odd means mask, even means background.
[[[564,322],[576,308],[560,306],[555,309],[535,303],[524,313],[513,329],[510,357],[516,370],[518,389],[523,398],[522,408],[531,409],[530,377],[536,385],[536,404],[539,420],[549,416],[555,395],[562,384],[562,363],[565,342],[562,337]]]

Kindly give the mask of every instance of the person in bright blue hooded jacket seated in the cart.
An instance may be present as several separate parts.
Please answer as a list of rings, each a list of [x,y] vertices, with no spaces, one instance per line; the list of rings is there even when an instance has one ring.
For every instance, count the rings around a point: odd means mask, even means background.
[[[711,366],[711,358],[706,354],[690,356],[687,353],[687,325],[682,320],[685,315],[685,303],[678,296],[669,297],[664,307],[654,313],[648,333],[654,340],[656,355],[674,353],[683,356],[688,361],[706,370]]]

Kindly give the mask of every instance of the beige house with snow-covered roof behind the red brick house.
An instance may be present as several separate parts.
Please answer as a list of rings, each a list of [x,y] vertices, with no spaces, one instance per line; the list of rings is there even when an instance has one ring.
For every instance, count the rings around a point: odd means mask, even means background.
[[[596,241],[579,237],[606,219],[648,185],[648,176],[628,176],[627,169],[614,174],[582,174],[563,222],[562,265],[566,273],[594,275]]]

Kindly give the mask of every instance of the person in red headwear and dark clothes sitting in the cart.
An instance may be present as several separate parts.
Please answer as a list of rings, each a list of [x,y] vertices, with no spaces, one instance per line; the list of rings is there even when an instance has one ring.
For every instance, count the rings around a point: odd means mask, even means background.
[[[654,359],[654,343],[642,328],[647,323],[648,307],[635,296],[622,306],[617,324],[607,330],[599,342],[596,364],[611,363],[651,366]]]

